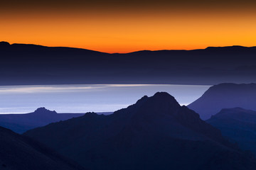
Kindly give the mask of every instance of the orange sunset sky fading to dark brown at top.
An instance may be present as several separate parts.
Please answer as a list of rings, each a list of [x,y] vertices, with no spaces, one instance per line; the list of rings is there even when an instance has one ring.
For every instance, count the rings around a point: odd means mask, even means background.
[[[1,1],[0,38],[102,52],[255,46],[256,1]]]

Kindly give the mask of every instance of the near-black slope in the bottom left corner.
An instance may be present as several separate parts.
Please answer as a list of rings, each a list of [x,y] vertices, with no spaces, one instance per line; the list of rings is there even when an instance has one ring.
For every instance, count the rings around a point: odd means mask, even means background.
[[[0,127],[0,169],[82,170],[83,168],[28,137]]]

